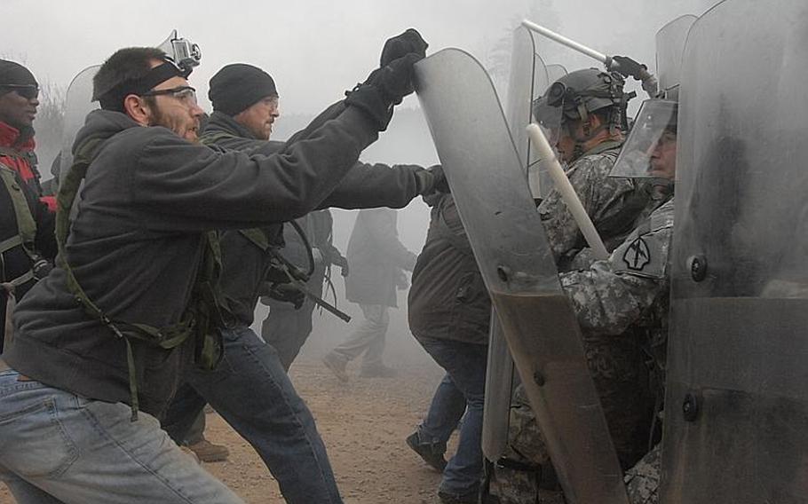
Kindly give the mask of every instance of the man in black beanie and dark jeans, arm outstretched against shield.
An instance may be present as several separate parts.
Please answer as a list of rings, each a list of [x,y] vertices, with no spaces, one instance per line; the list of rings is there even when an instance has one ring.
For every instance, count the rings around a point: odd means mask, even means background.
[[[420,38],[420,37],[419,37]],[[210,81],[209,97],[213,113],[203,130],[202,144],[221,150],[244,152],[271,151],[284,144],[267,142],[272,123],[278,117],[277,89],[272,78],[257,67],[229,65]],[[327,116],[327,111],[325,115]],[[313,121],[321,121],[318,117]],[[311,127],[310,127],[311,128]],[[297,133],[286,145],[294,145],[308,130]],[[306,139],[306,143],[316,141]],[[299,217],[297,223],[325,222],[330,232],[331,206],[344,209],[389,206],[400,208],[419,194],[432,192],[440,175],[415,165],[368,165],[357,163],[339,185],[317,206],[316,212]],[[221,329],[224,359],[218,369],[208,372],[191,369],[184,374],[186,384],[172,401],[163,428],[175,441],[187,439],[191,423],[207,401],[239,434],[250,442],[272,472],[289,504],[342,502],[330,467],[325,445],[314,424],[312,413],[297,395],[286,370],[311,332],[313,303],[302,292],[282,283],[273,254],[287,241],[284,256],[292,256],[294,232],[281,235],[281,225],[265,225],[247,230],[227,230],[219,235],[221,274],[219,282],[226,306],[225,327]],[[313,240],[315,260],[307,283],[319,293],[325,264],[335,262],[328,240]],[[299,248],[303,248],[299,245]],[[298,248],[298,249],[299,249]],[[304,248],[305,249],[305,248]],[[336,250],[336,249],[333,249]],[[338,254],[338,253],[337,253]],[[306,256],[304,252],[299,257]],[[299,260],[302,270],[308,262]],[[289,339],[294,351],[281,351],[275,343],[265,343],[251,329],[259,295],[269,295],[275,314],[289,315],[290,324],[307,328],[279,331],[278,340]],[[292,305],[297,306],[295,310]],[[302,321],[301,321],[302,320]]]

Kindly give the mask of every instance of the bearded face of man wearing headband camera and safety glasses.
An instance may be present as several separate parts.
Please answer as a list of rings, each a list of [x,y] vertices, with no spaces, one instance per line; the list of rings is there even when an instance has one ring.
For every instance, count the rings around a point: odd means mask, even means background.
[[[199,141],[199,120],[204,111],[196,104],[196,95],[183,77],[171,77],[153,91],[176,90],[149,97],[146,102],[149,126],[163,126],[189,142]],[[188,91],[191,90],[191,91]]]

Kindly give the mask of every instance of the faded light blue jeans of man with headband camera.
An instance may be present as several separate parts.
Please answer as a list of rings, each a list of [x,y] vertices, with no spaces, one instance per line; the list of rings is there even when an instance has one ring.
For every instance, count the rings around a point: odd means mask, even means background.
[[[242,503],[153,416],[0,372],[0,480],[19,504]]]

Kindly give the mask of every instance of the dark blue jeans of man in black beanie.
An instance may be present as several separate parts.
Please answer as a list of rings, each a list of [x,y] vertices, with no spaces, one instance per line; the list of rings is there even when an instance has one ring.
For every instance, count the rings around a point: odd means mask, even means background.
[[[182,440],[205,402],[250,442],[290,504],[341,503],[314,418],[272,345],[251,329],[222,331],[225,357],[215,371],[193,369],[163,426]]]

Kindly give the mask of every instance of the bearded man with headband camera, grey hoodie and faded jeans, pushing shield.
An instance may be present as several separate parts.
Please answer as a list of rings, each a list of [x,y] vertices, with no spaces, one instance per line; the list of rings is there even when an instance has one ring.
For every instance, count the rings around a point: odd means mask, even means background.
[[[278,154],[195,143],[202,109],[162,51],[107,59],[94,79],[102,110],[76,138],[60,211],[86,171],[83,199],[0,363],[0,477],[18,500],[241,502],[154,418],[183,368],[218,362],[221,342],[202,330],[216,295],[207,232],[316,208],[413,91],[424,50],[377,69]]]

